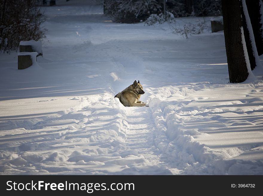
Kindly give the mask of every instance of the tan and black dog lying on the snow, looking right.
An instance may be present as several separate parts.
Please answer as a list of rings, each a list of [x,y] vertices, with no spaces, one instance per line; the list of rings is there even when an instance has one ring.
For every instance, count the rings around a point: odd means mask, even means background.
[[[143,91],[143,86],[135,80],[133,84],[119,92],[115,97],[120,99],[120,103],[124,106],[146,106],[145,103],[138,101],[140,96],[145,92]],[[115,98],[114,97],[114,98]]]

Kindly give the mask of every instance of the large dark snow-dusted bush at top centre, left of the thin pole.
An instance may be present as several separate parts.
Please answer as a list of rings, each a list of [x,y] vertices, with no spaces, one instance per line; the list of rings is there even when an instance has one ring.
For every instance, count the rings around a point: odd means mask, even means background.
[[[104,14],[114,22],[135,23],[144,21],[151,14],[160,14],[162,0],[105,0]]]

